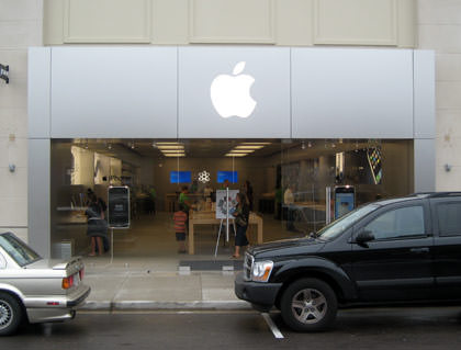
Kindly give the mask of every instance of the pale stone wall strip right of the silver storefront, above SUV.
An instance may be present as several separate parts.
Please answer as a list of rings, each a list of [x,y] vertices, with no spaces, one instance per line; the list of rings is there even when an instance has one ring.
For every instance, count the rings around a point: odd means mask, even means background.
[[[436,189],[461,191],[461,2],[418,1],[419,47],[436,52]]]

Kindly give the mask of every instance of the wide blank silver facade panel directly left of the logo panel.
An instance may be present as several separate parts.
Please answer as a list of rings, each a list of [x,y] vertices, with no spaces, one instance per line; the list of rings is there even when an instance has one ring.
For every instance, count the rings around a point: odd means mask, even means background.
[[[53,47],[52,137],[177,137],[176,47]]]

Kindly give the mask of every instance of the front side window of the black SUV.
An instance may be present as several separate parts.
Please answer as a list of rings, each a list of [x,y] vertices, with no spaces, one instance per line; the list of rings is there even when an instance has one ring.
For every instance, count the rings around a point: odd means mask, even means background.
[[[391,210],[375,217],[366,227],[375,239],[425,236],[424,207],[420,205]]]

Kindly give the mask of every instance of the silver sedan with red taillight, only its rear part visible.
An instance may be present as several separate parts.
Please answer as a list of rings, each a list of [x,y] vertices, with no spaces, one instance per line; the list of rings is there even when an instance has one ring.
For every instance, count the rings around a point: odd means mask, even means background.
[[[82,283],[83,261],[42,259],[12,233],[0,234],[0,336],[21,321],[71,319],[90,287]]]

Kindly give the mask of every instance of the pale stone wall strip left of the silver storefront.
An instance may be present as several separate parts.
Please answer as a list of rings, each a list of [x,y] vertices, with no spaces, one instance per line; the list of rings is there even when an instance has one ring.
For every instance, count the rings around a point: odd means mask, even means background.
[[[0,232],[29,240],[27,230],[27,47],[42,45],[42,0],[0,0]],[[10,172],[9,165],[15,165]]]

